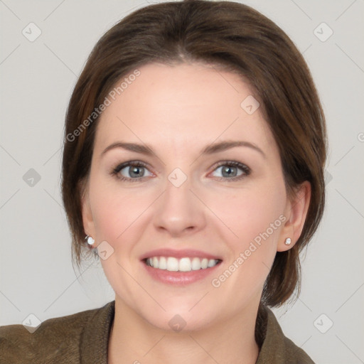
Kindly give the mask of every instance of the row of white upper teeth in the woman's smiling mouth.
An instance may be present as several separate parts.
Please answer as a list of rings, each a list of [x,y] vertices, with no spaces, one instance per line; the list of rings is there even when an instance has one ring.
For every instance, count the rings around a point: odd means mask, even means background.
[[[218,259],[200,259],[198,257],[181,259],[175,257],[150,257],[146,259],[146,264],[150,267],[165,269],[169,272],[191,272],[191,270],[212,268],[218,262]]]

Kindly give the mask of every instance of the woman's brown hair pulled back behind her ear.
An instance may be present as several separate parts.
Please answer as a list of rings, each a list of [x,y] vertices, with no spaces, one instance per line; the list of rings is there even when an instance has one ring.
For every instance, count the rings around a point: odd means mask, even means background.
[[[90,172],[98,107],[124,75],[152,62],[202,62],[241,75],[250,82],[277,141],[287,192],[294,193],[304,181],[311,183],[301,236],[287,252],[277,252],[263,289],[262,303],[282,304],[299,290],[299,252],[323,214],[325,119],[309,68],[294,43],[269,18],[232,1],[146,6],[119,21],[93,48],[65,119],[62,193],[73,235],[73,262],[80,267],[85,252],[81,196]]]

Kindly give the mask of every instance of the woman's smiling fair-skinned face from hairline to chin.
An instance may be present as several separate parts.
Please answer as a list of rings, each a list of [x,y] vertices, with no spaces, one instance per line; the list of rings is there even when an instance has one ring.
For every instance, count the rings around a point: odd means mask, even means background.
[[[107,96],[82,199],[115,299],[168,330],[256,314],[274,255],[300,232],[272,132],[237,75],[139,71]]]

